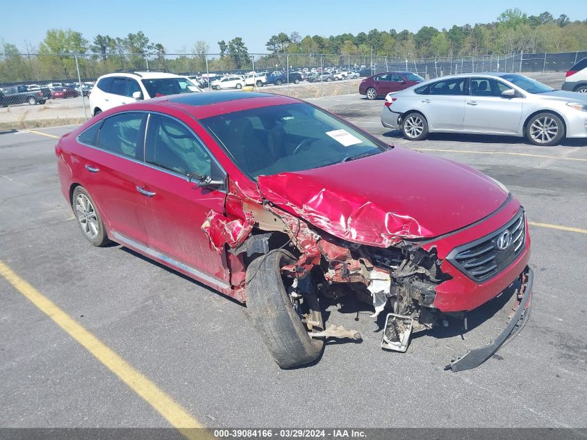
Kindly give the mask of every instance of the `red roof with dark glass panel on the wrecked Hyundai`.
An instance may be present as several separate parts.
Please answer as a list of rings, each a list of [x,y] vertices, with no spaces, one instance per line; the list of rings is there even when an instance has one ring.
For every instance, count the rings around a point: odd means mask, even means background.
[[[154,99],[153,104],[163,104],[189,113],[196,119],[222,115],[235,111],[267,106],[299,103],[298,99],[283,95],[258,92],[203,92],[174,95]]]

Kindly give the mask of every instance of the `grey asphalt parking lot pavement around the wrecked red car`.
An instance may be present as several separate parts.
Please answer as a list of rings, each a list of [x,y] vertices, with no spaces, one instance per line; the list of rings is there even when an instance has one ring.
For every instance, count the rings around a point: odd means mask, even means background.
[[[317,364],[280,370],[246,307],[124,247],[85,241],[60,193],[51,137],[72,127],[0,134],[0,261],[208,427],[587,427],[587,140],[410,142],[381,127],[381,100],[311,101],[386,142],[486,172],[542,224],[530,226],[531,319],[498,356],[444,370],[499,332],[496,304],[471,332],[451,323],[395,353],[381,350],[369,307],[341,300],[327,324],[363,341],[330,342]],[[0,304],[0,427],[170,426],[3,277]]]

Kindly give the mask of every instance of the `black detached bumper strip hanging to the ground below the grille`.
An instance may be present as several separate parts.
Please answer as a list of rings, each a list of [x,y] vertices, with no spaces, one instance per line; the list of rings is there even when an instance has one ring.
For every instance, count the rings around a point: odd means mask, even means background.
[[[471,350],[465,356],[459,357],[456,359],[456,361],[452,361],[445,367],[445,370],[452,370],[453,372],[456,372],[470,370],[472,368],[478,367],[491,356],[493,356],[505,341],[517,335],[524,327],[524,325],[526,325],[530,316],[534,272],[532,272],[529,267],[526,267],[521,276],[522,285],[520,286],[520,293],[518,293],[518,298],[521,298],[519,300],[520,302],[518,303],[518,309],[513,314],[504,331],[499,334],[499,336],[497,336],[497,338],[489,345],[477,348],[476,350]]]

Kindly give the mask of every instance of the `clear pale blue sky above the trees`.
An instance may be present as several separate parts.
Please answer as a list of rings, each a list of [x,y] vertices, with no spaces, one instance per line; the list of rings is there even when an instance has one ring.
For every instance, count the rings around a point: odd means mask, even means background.
[[[3,3],[3,10],[22,10],[20,1]],[[375,4],[379,8],[367,8]],[[566,14],[571,20],[587,18],[584,0],[28,0],[28,12],[20,15],[23,21],[4,17],[0,42],[16,44],[19,49],[24,49],[26,42],[38,47],[49,28],[71,28],[90,42],[98,34],[124,37],[143,31],[151,42],[163,44],[167,54],[189,52],[197,40],[206,41],[210,53],[217,53],[218,41],[228,42],[234,37],[242,37],[249,52],[264,53],[267,40],[279,32],[328,37],[356,35],[372,28],[417,32],[422,26],[433,26],[440,30],[453,24],[493,22],[508,8],[520,8],[528,15],[548,11],[554,17]]]

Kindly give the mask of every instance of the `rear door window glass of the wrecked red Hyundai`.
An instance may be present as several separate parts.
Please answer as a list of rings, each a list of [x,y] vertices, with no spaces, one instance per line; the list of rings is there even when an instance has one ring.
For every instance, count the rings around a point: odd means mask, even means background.
[[[146,113],[119,113],[108,117],[100,129],[98,147],[136,158],[142,149],[145,115]]]

